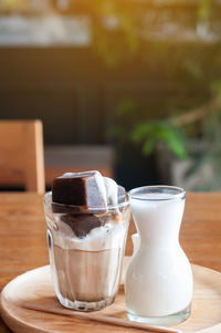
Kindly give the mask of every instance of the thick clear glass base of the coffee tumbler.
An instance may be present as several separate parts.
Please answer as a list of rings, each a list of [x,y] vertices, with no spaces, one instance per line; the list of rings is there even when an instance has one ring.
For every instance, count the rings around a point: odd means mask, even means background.
[[[82,301],[71,301],[69,299],[63,298],[61,294],[57,295],[60,303],[69,309],[78,310],[78,311],[97,311],[110,305],[115,296],[106,298],[102,301],[97,302],[82,302]]]

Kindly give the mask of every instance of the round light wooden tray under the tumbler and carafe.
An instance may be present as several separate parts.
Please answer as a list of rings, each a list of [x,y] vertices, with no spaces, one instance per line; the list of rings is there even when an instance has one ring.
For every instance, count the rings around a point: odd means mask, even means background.
[[[177,327],[182,332],[221,332],[221,273],[194,264],[192,271],[194,279],[192,312],[190,318]],[[18,305],[22,302],[43,304],[52,309],[61,308],[53,291],[48,266],[19,275],[3,289],[1,315],[13,332],[128,332],[126,327],[23,309]],[[123,288],[115,303],[99,313],[126,319]],[[129,329],[129,332],[138,331]]]

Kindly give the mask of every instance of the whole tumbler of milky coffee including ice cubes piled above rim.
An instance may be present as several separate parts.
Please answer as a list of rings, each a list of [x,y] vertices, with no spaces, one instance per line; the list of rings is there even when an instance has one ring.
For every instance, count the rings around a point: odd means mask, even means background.
[[[45,194],[44,211],[60,303],[81,311],[113,303],[130,217],[124,188],[98,171],[65,174]]]

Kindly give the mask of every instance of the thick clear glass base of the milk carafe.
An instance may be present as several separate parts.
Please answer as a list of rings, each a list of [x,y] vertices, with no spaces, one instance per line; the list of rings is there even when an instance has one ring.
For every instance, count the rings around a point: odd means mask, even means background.
[[[164,326],[173,326],[178,325],[181,322],[186,321],[190,316],[191,305],[189,305],[183,311],[165,315],[165,316],[139,316],[127,312],[127,316],[130,321],[146,323],[151,325],[164,325]]]

